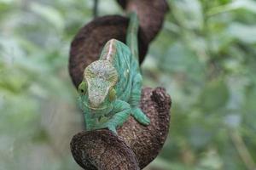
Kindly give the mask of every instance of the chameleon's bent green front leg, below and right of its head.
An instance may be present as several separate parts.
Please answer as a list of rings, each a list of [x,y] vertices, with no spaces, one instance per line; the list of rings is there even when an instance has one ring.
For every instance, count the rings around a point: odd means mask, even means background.
[[[116,133],[116,127],[122,126],[125,121],[129,118],[131,113],[131,106],[123,100],[115,100],[113,102],[113,115],[108,122],[103,123],[99,128],[108,127],[110,131]]]

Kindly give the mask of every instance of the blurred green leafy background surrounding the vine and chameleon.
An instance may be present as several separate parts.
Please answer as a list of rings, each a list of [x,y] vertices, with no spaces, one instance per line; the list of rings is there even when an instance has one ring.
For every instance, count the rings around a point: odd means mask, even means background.
[[[148,170],[255,170],[256,1],[169,0],[142,65],[172,96],[166,144]],[[80,169],[83,129],[67,71],[93,0],[0,0],[0,170]],[[122,14],[101,0],[99,15]],[[111,160],[110,160],[111,161]]]

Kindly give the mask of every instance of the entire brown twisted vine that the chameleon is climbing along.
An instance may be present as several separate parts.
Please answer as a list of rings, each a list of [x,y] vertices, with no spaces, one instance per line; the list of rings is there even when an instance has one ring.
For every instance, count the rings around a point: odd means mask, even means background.
[[[148,44],[160,31],[168,5],[166,0],[117,0],[126,11],[137,11],[140,23],[140,63],[148,51]],[[125,42],[129,20],[119,15],[96,18],[74,37],[69,58],[69,72],[78,88],[84,68],[95,61],[102,46],[111,38]],[[73,158],[84,169],[131,170],[143,169],[158,155],[168,134],[171,98],[164,88],[143,88],[140,107],[150,118],[150,125],[142,126],[130,117],[119,136],[107,129],[80,132],[71,141]]]

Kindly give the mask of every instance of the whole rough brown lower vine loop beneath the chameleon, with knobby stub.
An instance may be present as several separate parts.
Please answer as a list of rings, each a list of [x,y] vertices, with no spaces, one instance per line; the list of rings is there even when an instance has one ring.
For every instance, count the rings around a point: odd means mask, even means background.
[[[144,88],[140,107],[150,118],[147,127],[131,116],[119,127],[119,137],[107,129],[76,134],[71,150],[79,165],[92,170],[133,170],[153,161],[166,141],[171,99],[164,88]]]

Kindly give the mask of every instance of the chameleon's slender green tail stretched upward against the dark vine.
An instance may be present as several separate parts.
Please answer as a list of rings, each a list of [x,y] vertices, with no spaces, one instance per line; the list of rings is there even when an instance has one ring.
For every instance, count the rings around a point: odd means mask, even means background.
[[[127,30],[126,44],[131,49],[131,54],[138,59],[137,32],[139,28],[139,20],[135,12],[131,12],[129,18],[130,23]]]

